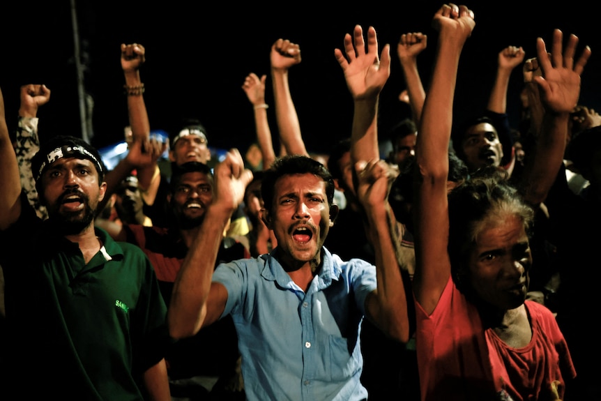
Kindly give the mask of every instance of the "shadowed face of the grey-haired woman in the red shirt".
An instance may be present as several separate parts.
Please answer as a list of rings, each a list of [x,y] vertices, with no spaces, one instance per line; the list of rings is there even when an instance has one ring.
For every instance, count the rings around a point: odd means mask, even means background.
[[[517,308],[528,291],[532,255],[524,222],[517,215],[482,223],[468,254],[473,292],[500,310]]]

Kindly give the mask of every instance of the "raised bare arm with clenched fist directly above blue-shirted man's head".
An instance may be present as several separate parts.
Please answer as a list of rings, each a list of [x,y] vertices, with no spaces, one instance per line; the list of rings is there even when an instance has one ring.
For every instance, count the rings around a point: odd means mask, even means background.
[[[275,117],[280,139],[287,154],[309,156],[300,133],[298,114],[292,102],[288,73],[300,63],[300,47],[290,40],[278,39],[271,46],[271,82],[275,99]]]

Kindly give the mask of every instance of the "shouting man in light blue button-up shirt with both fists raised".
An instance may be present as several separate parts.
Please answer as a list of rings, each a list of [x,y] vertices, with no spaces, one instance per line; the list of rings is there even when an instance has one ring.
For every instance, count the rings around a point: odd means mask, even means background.
[[[248,400],[365,400],[360,383],[363,317],[409,340],[407,303],[386,213],[383,162],[360,174],[358,192],[376,266],[344,262],[323,244],[338,208],[332,176],[306,156],[286,156],[266,170],[262,218],[277,247],[255,259],[220,264],[220,236],[252,173],[234,149],[215,167],[215,193],[190,246],[169,305],[169,331],[190,337],[231,315],[238,331]],[[357,229],[363,229],[361,222]]]

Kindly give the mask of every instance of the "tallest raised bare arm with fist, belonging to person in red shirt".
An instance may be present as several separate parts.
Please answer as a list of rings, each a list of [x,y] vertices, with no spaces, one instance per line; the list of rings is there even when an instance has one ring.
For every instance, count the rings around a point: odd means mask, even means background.
[[[415,222],[416,273],[413,292],[427,313],[439,301],[448,278],[448,145],[459,55],[475,26],[465,6],[443,5],[434,15],[439,31],[436,61],[417,138]]]

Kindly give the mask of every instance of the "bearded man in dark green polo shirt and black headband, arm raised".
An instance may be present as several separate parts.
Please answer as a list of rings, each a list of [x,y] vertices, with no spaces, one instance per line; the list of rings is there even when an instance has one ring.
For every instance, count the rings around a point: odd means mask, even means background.
[[[57,136],[41,146],[31,169],[45,221],[22,194],[0,92],[8,329],[0,398],[169,401],[163,356],[172,340],[151,263],[93,224],[107,188],[98,151]]]

